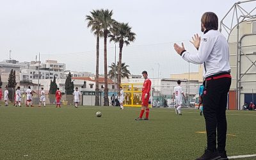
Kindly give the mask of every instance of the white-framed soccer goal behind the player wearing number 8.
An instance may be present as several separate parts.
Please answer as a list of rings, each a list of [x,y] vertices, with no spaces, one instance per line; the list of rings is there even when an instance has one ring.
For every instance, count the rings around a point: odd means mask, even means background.
[[[199,87],[201,83],[181,84],[185,98],[183,97],[182,106],[186,108],[196,108],[199,102]],[[173,108],[173,89],[176,84],[152,85],[150,102],[152,107],[156,108]]]

